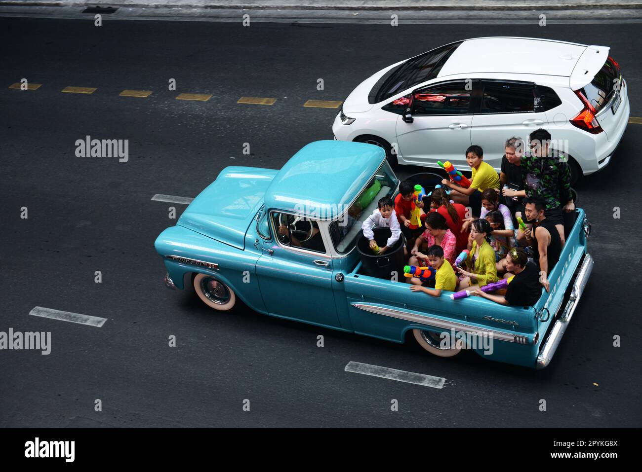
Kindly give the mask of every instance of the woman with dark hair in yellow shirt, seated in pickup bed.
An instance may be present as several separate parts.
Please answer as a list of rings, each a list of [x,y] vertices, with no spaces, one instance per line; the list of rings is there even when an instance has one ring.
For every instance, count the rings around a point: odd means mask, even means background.
[[[483,287],[489,283],[497,282],[495,251],[489,244],[490,233],[492,233],[492,227],[485,219],[476,219],[471,224],[473,244],[470,247],[470,255],[465,262],[467,269],[472,272],[457,267],[458,273],[464,276],[459,282],[458,290],[471,287],[471,285]]]

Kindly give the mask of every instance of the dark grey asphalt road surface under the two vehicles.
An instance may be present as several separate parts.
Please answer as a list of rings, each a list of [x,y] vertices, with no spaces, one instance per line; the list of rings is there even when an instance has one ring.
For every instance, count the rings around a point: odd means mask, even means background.
[[[460,38],[607,44],[629,84],[631,115],[640,117],[638,33],[637,24],[243,28],[103,19],[97,28],[92,19],[0,18],[0,331],[50,331],[52,338],[50,355],[0,351],[0,426],[640,426],[642,124],[629,124],[605,171],[577,185],[578,206],[593,224],[595,267],[544,371],[469,352],[437,358],[415,344],[247,308],[213,312],[162,284],[153,241],[175,224],[168,207],[180,215],[185,205],[150,200],[196,196],[227,165],[280,168],[308,142],[332,138],[337,110],[304,108],[306,100],[341,101],[388,63]],[[42,87],[8,88],[21,78]],[[170,78],[176,91],[168,90]],[[61,93],[67,86],[98,89]],[[124,89],[153,93],[119,96]],[[180,92],[213,97],[179,101]],[[277,101],[240,105],[241,96]],[[128,139],[128,162],[76,157],[74,143],[86,135]],[[108,321],[95,328],[29,316],[36,306]],[[324,348],[317,348],[319,334]],[[168,346],[169,335],[177,347]],[[350,361],[444,377],[446,386],[346,373]],[[391,411],[392,399],[399,411]]]

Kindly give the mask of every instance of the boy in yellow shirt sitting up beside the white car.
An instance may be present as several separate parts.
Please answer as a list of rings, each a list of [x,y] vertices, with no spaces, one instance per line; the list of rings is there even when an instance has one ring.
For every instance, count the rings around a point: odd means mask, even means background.
[[[483,149],[476,144],[466,149],[466,162],[473,169],[470,187],[464,189],[447,179],[442,180],[442,184],[452,190],[450,198],[455,203],[469,205],[473,216],[479,218],[482,212],[482,192],[486,189],[497,189],[499,192],[499,176],[492,165],[483,162]]]

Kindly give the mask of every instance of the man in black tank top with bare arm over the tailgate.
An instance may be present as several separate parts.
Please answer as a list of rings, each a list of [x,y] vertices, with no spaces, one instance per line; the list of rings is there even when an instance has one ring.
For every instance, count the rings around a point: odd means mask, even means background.
[[[526,198],[525,222],[533,223],[533,230],[524,232],[526,240],[530,242],[533,249],[535,263],[539,266],[540,274],[543,275],[542,285],[548,292],[548,274],[551,273],[562,252],[562,240],[555,228],[555,223],[544,216],[546,200],[540,195]]]

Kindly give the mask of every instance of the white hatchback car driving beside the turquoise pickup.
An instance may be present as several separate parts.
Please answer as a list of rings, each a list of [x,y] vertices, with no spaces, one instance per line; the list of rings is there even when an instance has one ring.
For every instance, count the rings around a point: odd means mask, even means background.
[[[369,142],[390,163],[469,171],[464,152],[482,146],[499,171],[504,143],[537,128],[569,156],[571,180],[611,160],[629,99],[609,47],[536,38],[474,38],[397,62],[345,99],[335,139]]]

